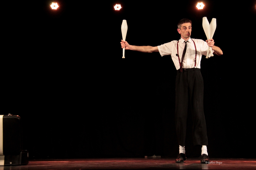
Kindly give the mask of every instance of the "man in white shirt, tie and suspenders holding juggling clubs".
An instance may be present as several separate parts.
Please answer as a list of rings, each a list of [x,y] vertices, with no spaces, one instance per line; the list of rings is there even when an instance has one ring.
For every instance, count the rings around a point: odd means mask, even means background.
[[[185,154],[185,137],[187,126],[188,101],[191,105],[193,120],[194,145],[202,145],[201,163],[209,161],[207,153],[208,140],[203,108],[204,85],[200,72],[202,55],[207,55],[208,46],[212,47],[213,54],[222,55],[222,50],[214,45],[214,40],[203,41],[191,39],[192,22],[182,19],[178,23],[179,41],[172,41],[160,46],[133,46],[121,40],[121,47],[126,50],[141,51],[144,53],[159,52],[161,56],[171,55],[177,69],[176,76],[176,106],[175,125],[179,142],[177,163],[183,163],[187,158]]]

